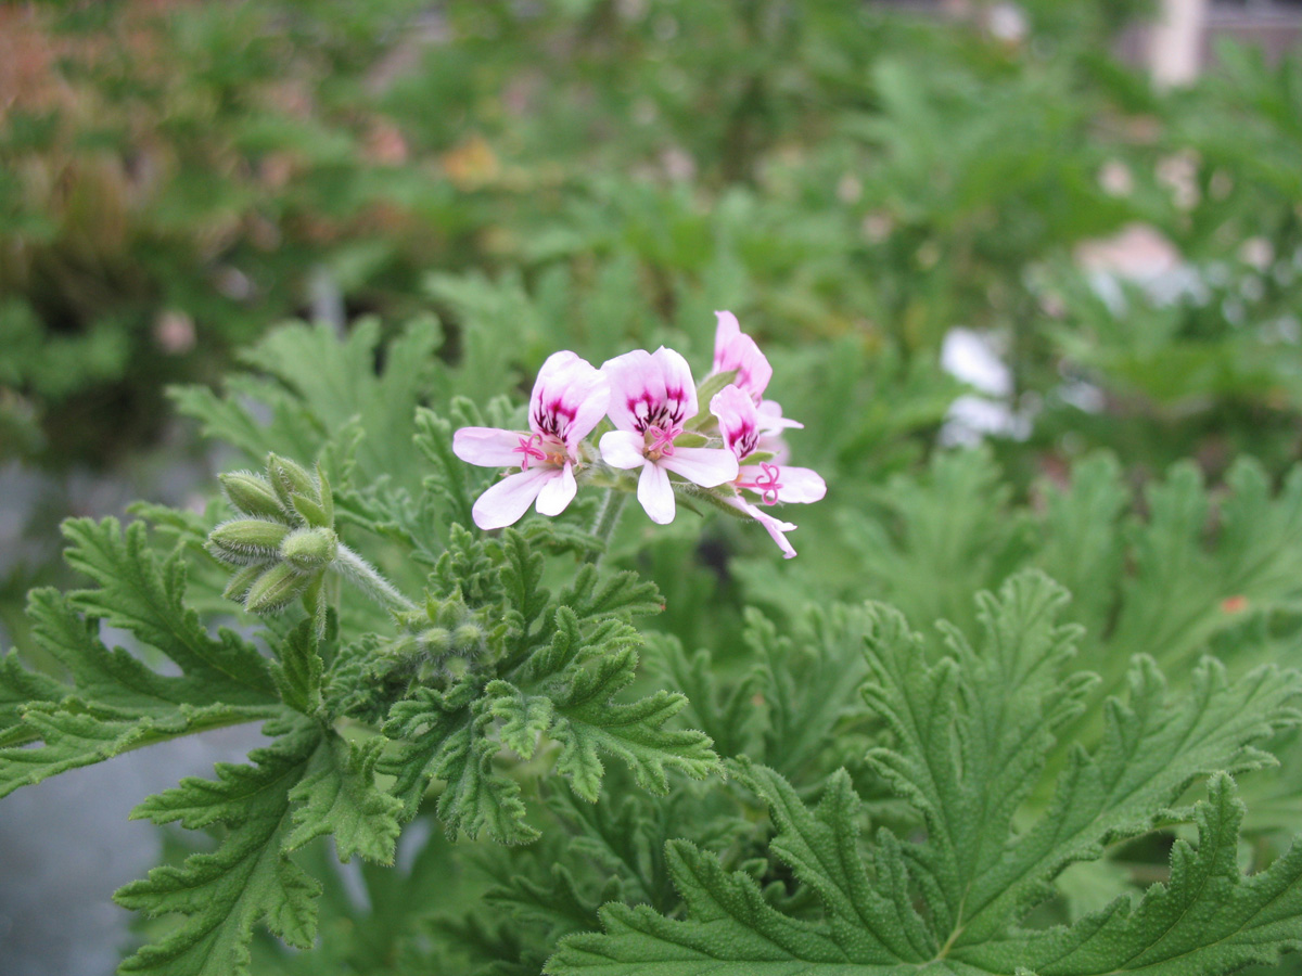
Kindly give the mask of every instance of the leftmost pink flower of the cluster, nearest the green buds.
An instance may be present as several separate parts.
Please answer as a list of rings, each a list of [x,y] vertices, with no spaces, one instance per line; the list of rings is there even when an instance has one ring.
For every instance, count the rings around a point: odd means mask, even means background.
[[[519,467],[479,496],[480,528],[501,528],[536,500],[543,515],[559,515],[574,498],[578,445],[605,415],[607,377],[574,353],[553,353],[538,371],[529,397],[529,432],[462,427],[452,439],[458,458],[480,467]]]

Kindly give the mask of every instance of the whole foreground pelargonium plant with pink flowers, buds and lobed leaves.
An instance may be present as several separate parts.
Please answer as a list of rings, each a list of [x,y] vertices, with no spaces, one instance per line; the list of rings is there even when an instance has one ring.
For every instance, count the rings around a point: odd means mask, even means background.
[[[1035,569],[939,636],[824,601],[743,608],[689,653],[635,623],[665,597],[615,565],[642,544],[612,556],[628,497],[793,556],[771,513],[824,496],[732,315],[699,386],[673,350],[561,351],[523,419],[439,400],[475,379],[430,323],[380,371],[376,342],[285,327],[262,376],[180,393],[249,467],[202,514],[66,522],[90,584],[31,593],[42,666],[0,660],[0,796],[266,738],[133,812],[186,833],[116,894],[148,919],[121,972],[1219,976],[1302,946],[1302,846],[1245,874],[1237,783],[1286,755],[1295,671],[1207,657],[1168,685],[1137,655],[1100,691]],[[1240,481],[1226,558],[1275,580],[1259,536],[1302,537],[1302,483],[1271,506]],[[1115,856],[1172,829],[1169,867]]]

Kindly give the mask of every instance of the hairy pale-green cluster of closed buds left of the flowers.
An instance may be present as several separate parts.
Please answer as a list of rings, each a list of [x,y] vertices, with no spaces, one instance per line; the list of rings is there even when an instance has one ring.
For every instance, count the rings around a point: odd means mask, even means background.
[[[223,522],[208,535],[212,556],[240,571],[225,596],[250,613],[279,613],[302,597],[309,613],[324,618],[326,570],[339,557],[335,504],[318,468],[267,455],[267,474],[232,471],[221,487],[242,518]]]

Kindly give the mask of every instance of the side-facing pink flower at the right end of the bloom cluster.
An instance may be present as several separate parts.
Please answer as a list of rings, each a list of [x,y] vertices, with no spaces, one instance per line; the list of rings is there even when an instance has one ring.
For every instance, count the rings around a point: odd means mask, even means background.
[[[768,459],[745,463],[747,458],[768,453],[769,441],[775,431],[783,427],[798,426],[790,420],[784,420],[781,414],[766,413],[762,406],[736,385],[724,386],[710,401],[710,413],[719,419],[719,432],[724,439],[724,446],[737,458],[737,478],[733,485],[740,491],[751,492],[759,496],[764,505],[777,502],[809,504],[819,501],[827,495],[827,484],[807,467],[793,467],[785,463],[785,444],[781,446],[783,454]],[[766,515],[755,505],[743,497],[728,500],[728,504],[745,511],[754,518],[781,547],[786,558],[796,554],[783,532],[789,532],[796,526],[786,522],[777,522]]]

